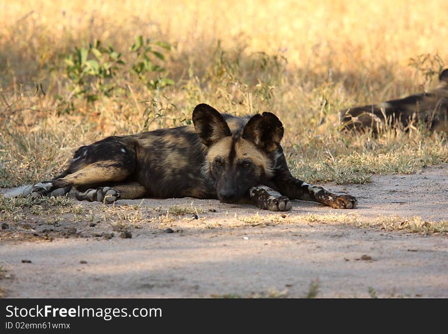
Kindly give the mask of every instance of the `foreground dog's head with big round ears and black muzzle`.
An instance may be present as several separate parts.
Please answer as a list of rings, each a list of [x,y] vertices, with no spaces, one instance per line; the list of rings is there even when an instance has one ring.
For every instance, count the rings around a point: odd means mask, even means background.
[[[207,104],[193,110],[193,124],[208,147],[207,173],[221,202],[237,202],[251,187],[272,175],[275,151],[283,137],[282,122],[270,112],[251,117],[230,130],[224,117]]]

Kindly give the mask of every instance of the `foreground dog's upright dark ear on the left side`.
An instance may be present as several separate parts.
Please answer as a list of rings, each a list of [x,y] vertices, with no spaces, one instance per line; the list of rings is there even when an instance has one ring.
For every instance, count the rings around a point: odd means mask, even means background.
[[[198,104],[193,110],[192,119],[194,129],[204,145],[210,146],[232,135],[224,117],[208,104]]]

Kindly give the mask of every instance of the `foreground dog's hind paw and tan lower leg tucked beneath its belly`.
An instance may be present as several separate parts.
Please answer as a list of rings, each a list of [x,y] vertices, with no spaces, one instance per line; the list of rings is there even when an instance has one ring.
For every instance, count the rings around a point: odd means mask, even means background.
[[[98,201],[106,204],[113,203],[117,199],[136,199],[142,198],[146,194],[146,188],[138,182],[128,184],[119,184],[112,187],[99,187],[97,189],[88,189],[83,193],[77,193],[76,198],[79,201]]]

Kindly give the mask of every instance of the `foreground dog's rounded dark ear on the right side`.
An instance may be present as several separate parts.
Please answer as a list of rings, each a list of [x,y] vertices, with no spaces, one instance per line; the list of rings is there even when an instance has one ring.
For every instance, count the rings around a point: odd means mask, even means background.
[[[250,140],[266,153],[277,149],[283,138],[283,124],[273,113],[263,112],[249,119],[242,138]]]

